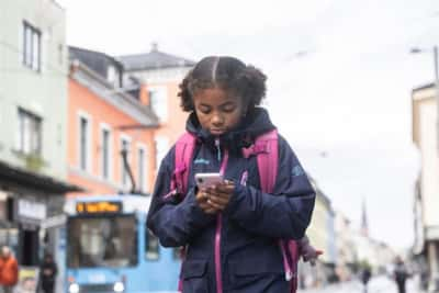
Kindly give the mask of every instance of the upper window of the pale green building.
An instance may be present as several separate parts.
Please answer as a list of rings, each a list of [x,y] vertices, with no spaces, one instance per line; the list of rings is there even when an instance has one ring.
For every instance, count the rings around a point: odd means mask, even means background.
[[[23,21],[23,65],[32,70],[41,70],[41,32]]]

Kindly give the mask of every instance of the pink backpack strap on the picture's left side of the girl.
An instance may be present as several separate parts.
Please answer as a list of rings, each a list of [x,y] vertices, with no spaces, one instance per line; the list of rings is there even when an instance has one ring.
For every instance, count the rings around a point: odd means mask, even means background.
[[[184,133],[176,143],[175,170],[171,179],[171,190],[181,193],[182,196],[188,192],[188,181],[193,151],[196,138],[190,133]]]

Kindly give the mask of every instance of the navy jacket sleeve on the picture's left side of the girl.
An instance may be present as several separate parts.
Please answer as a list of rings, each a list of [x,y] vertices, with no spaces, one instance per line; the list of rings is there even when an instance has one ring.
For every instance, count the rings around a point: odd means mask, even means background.
[[[190,188],[184,196],[170,190],[173,153],[175,148],[161,162],[147,218],[148,228],[165,247],[189,244],[195,234],[214,221],[214,216],[204,213],[198,205],[194,188]]]

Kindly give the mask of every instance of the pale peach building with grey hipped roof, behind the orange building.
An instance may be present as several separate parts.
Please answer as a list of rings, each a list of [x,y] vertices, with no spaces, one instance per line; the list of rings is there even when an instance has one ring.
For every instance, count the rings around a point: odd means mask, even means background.
[[[160,52],[157,44],[153,44],[149,53],[121,56],[117,59],[126,72],[144,84],[143,89],[147,91],[144,103],[149,104],[159,119],[159,127],[155,131],[156,161],[159,164],[184,132],[188,113],[180,108],[178,86],[195,63]]]

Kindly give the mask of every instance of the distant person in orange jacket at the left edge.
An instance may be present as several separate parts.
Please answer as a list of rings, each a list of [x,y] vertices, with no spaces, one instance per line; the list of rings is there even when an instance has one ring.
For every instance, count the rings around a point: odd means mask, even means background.
[[[19,281],[19,263],[8,246],[1,248],[0,285],[3,293],[12,293]]]

